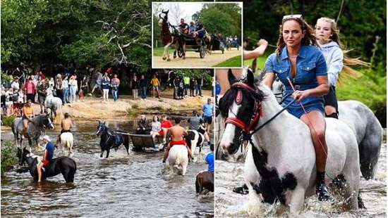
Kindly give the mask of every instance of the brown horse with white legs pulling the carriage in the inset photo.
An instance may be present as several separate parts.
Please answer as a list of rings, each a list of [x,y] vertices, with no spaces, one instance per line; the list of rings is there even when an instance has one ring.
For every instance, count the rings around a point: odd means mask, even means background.
[[[178,34],[178,30],[176,30],[176,28],[169,23],[168,14],[169,10],[162,10],[162,13],[159,14],[159,25],[162,26],[160,36],[162,37],[162,44],[164,45],[162,58],[163,60],[170,61],[171,59],[169,56],[169,47],[171,46],[171,44],[174,44],[174,58],[176,58],[176,50],[179,48],[183,48],[183,41]],[[164,16],[162,17],[162,15]],[[170,28],[172,29],[172,31],[170,31]]]

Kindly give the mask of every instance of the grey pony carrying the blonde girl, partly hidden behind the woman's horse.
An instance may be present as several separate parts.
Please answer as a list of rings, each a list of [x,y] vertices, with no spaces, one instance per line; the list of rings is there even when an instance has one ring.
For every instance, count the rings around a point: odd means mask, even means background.
[[[272,91],[279,102],[284,84],[277,82],[276,86],[272,86]],[[360,101],[338,101],[338,110],[338,119],[348,124],[356,134],[361,173],[365,179],[371,179],[375,175],[380,156],[382,126],[372,110]]]

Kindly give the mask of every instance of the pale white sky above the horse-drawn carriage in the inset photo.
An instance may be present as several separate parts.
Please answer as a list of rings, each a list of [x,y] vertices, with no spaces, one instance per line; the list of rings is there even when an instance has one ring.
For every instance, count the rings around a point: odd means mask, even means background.
[[[175,5],[179,5],[179,9],[181,10],[181,13],[179,13],[178,15],[179,17],[178,19],[183,18],[185,19],[186,23],[190,23],[191,16],[197,11],[201,11],[203,6],[203,3],[200,3],[200,2],[157,2],[157,3],[161,5],[160,8],[163,9],[164,11],[166,11],[167,8],[169,8],[169,22],[171,23],[171,25],[176,25],[176,18],[174,18]],[[152,4],[154,4],[154,2],[152,2]],[[242,7],[241,4],[240,6]]]

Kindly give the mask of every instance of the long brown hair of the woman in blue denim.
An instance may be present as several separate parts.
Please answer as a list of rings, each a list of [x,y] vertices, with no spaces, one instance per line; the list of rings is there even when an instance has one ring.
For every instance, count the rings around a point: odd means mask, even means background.
[[[283,25],[286,23],[286,21],[289,20],[295,20],[297,23],[299,23],[299,26],[301,27],[302,32],[305,33],[305,36],[303,37],[301,44],[306,46],[317,46],[319,47],[317,43],[317,38],[314,34],[313,27],[310,27],[308,23],[305,22],[302,18],[288,18],[281,21],[281,25],[279,27],[279,39],[277,39],[277,50],[275,51],[277,53],[277,59],[279,60],[281,51],[284,49],[284,46],[286,46],[286,42],[284,42],[283,39]]]

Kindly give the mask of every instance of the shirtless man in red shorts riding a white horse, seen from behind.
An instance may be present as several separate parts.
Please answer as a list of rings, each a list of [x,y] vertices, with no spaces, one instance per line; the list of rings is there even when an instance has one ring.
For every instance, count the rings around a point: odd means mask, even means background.
[[[193,155],[191,154],[191,150],[190,148],[188,148],[188,146],[186,145],[186,141],[183,139],[183,136],[187,136],[188,134],[186,132],[186,129],[181,127],[181,125],[179,124],[180,122],[181,122],[181,118],[176,117],[174,127],[170,128],[171,141],[169,143],[169,146],[167,146],[166,152],[164,153],[163,162],[166,162],[166,159],[169,157],[170,148],[175,145],[186,146],[188,150],[188,158],[190,160],[193,160]]]

